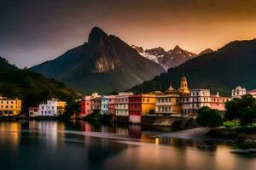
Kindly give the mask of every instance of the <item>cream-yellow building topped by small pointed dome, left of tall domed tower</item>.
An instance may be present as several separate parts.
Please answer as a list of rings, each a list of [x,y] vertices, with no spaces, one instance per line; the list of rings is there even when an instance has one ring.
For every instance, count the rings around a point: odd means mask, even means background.
[[[176,115],[181,112],[180,95],[178,90],[172,88],[172,84],[165,93],[156,94],[155,114]]]

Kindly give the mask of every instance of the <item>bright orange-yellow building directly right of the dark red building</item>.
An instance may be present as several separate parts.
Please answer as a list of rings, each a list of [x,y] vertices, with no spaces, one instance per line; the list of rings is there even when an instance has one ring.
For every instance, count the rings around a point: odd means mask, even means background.
[[[142,115],[154,113],[155,94],[142,94]]]

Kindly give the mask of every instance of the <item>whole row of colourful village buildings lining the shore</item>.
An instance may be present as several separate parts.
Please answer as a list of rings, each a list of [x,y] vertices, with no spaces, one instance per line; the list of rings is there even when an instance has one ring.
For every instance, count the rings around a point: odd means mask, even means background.
[[[210,89],[189,89],[188,80],[182,77],[180,87],[175,89],[170,84],[166,92],[153,91],[149,94],[133,94],[120,92],[118,95],[100,95],[93,93],[80,99],[79,117],[89,116],[94,112],[113,116],[113,121],[140,123],[142,116],[196,116],[197,111],[208,106],[224,113],[225,102],[241,98],[244,94],[252,94],[256,98],[256,90],[247,91],[240,86],[233,89],[230,97],[211,94]],[[0,98],[0,116],[19,116],[20,99]],[[29,108],[30,117],[56,117],[65,112],[67,103],[59,99],[48,99],[38,106]],[[121,121],[120,121],[121,120]]]

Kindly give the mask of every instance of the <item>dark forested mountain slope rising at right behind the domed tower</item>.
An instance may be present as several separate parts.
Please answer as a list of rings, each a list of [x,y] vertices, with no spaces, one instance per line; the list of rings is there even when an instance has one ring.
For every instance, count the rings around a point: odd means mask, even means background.
[[[131,90],[137,93],[165,90],[171,81],[178,87],[178,80],[184,74],[188,77],[189,88],[210,88],[212,93],[219,91],[230,95],[230,90],[238,85],[255,88],[256,71],[252,69],[255,63],[256,40],[234,41],[215,52],[189,59]]]

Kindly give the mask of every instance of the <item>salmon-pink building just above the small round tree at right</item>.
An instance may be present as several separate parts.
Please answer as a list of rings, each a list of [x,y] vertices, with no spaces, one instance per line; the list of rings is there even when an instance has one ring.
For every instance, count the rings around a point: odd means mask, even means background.
[[[226,111],[225,103],[230,100],[231,98],[229,97],[220,97],[217,92],[216,95],[211,95],[210,108],[217,109],[218,111]]]

